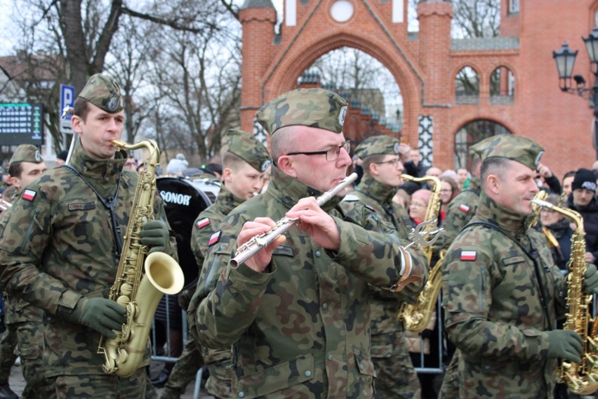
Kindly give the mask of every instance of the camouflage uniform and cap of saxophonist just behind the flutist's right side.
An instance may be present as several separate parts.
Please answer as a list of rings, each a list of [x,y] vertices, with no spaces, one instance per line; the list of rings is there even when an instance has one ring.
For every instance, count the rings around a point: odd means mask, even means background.
[[[373,155],[399,155],[399,141],[390,136],[366,138],[355,150],[361,159]],[[368,174],[357,190],[343,199],[343,209],[355,202],[371,207],[380,219],[394,227],[397,235],[408,240],[411,221],[403,207],[392,202],[397,188],[376,181]],[[372,360],[376,369],[376,398],[420,398],[420,381],[413,368],[407,348],[403,323],[397,319],[401,298],[417,296],[419,290],[411,284],[398,294],[370,287]]]

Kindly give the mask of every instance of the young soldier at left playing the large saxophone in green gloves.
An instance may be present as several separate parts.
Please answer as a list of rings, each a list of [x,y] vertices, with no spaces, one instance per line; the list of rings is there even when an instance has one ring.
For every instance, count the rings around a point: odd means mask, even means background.
[[[114,339],[126,308],[107,299],[117,276],[138,174],[112,143],[123,131],[119,85],[95,74],[74,103],[76,146],[69,167],[46,171],[23,190],[0,236],[0,283],[45,310],[44,365],[58,398],[145,396],[144,361],[130,377],[105,374],[100,336]],[[159,201],[159,199],[157,199]],[[164,209],[144,223],[140,242],[175,256]]]

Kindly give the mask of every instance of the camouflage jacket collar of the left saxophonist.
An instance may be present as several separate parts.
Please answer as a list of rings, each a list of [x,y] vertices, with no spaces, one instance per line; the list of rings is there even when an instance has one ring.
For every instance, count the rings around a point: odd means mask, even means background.
[[[102,197],[109,197],[114,195],[125,161],[126,151],[124,150],[117,151],[114,159],[98,160],[89,157],[81,147],[81,139],[77,136],[69,165],[85,176]]]

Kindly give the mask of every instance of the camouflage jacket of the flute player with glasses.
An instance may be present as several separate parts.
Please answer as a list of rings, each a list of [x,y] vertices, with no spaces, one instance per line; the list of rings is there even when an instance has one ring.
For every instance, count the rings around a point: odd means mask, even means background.
[[[293,227],[265,273],[230,266],[246,221],[277,221],[300,198],[320,194],[273,167],[267,192],[234,209],[208,251],[188,311],[190,328],[206,346],[234,344],[232,390],[238,397],[373,396],[368,283],[390,287],[402,266],[392,231],[366,230],[380,228],[376,214],[356,206],[343,220],[335,197],[322,208],[338,225],[338,251],[318,247]],[[411,274],[424,273],[425,264],[413,261]],[[206,287],[210,275],[218,280]]]

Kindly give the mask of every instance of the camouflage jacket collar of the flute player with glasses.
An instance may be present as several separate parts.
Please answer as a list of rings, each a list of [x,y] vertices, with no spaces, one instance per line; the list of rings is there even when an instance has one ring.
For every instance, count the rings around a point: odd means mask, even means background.
[[[288,209],[291,209],[301,198],[317,198],[322,195],[321,191],[298,181],[296,178],[288,176],[288,174],[285,174],[275,165],[272,165],[272,178],[270,180],[270,185],[268,185],[267,192],[282,202]],[[326,202],[326,204],[322,205],[321,209],[328,212],[336,207],[341,199],[343,199],[343,197],[336,195]]]

